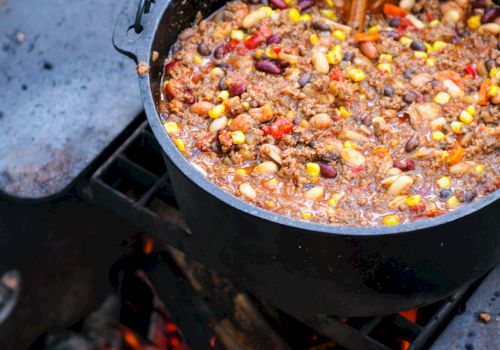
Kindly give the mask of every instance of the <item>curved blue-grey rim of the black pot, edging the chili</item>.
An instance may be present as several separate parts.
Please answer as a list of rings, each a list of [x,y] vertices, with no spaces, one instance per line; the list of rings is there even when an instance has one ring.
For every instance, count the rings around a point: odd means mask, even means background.
[[[163,18],[164,14],[164,12],[161,13],[159,18]],[[151,65],[152,57],[152,55],[149,53],[152,52],[152,46],[156,39],[158,27],[161,22],[162,21],[159,20],[155,23],[155,27],[152,31],[153,34],[150,38],[148,38],[147,45],[144,46],[144,50],[147,54],[145,54],[143,57],[146,58],[146,63],[148,64],[148,66]],[[446,214],[438,215],[432,218],[419,219],[411,223],[405,223],[396,226],[336,226],[303,221],[299,219],[292,219],[287,216],[275,214],[271,211],[261,209],[236,196],[233,196],[229,192],[224,191],[222,188],[206,178],[200,171],[196,170],[191,165],[191,163],[178,151],[173,141],[170,139],[170,137],[168,137],[161,123],[160,115],[158,113],[156,103],[154,102],[155,98],[153,95],[153,91],[151,90],[151,79],[159,79],[159,77],[152,76],[151,72],[142,77],[139,77],[142,102],[151,129],[153,130],[156,139],[159,141],[163,151],[166,153],[168,158],[177,167],[177,169],[196,186],[200,187],[202,190],[208,192],[208,194],[226,203],[227,205],[241,210],[242,212],[252,215],[258,219],[271,221],[276,224],[289,226],[295,229],[302,229],[325,234],[353,236],[393,235],[433,228],[454,220],[458,220],[469,214],[479,211],[490,204],[495,203],[500,198],[500,189],[497,189],[495,192],[488,194],[486,197],[477,202],[466,204]]]

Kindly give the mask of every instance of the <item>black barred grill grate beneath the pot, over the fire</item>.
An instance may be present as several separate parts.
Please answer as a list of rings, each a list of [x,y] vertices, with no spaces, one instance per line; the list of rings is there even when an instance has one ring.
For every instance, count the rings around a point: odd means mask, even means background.
[[[161,148],[147,122],[142,123],[92,176],[89,195],[163,242],[186,252],[187,247],[183,247],[180,238],[190,233],[173,196]],[[189,256],[189,252],[186,253]],[[340,349],[400,349],[401,341],[405,340],[411,343],[409,350],[417,350],[424,349],[438,336],[464,295],[466,291],[462,290],[451,298],[419,309],[417,323],[400,315],[345,320],[328,315],[285,315],[273,307],[263,307],[264,304],[258,309],[289,344],[296,342],[287,339],[290,334],[286,330],[277,330],[287,317],[294,328],[308,329],[309,334],[312,329],[319,334],[306,348],[318,345],[316,341],[325,338],[328,344],[335,344],[335,348]],[[256,303],[261,301],[256,300]],[[206,300],[201,304],[206,305]]]

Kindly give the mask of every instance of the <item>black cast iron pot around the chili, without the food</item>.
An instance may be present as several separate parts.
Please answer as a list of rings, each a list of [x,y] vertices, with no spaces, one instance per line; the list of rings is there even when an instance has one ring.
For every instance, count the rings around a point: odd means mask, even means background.
[[[256,208],[192,168],[165,133],[155,101],[177,35],[198,11],[206,17],[223,4],[127,1],[114,31],[115,47],[150,67],[139,77],[142,101],[189,220],[193,235],[183,244],[194,258],[286,311],[339,316],[388,314],[435,302],[499,261],[500,191],[411,224],[336,227]],[[160,54],[154,61],[153,51]]]

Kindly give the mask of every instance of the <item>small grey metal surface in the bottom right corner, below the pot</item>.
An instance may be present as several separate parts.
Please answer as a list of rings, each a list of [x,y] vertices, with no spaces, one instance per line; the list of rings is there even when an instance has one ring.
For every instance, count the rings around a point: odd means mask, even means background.
[[[491,316],[482,322],[480,314]],[[431,350],[497,350],[500,348],[500,265],[481,283],[462,314],[441,333]]]

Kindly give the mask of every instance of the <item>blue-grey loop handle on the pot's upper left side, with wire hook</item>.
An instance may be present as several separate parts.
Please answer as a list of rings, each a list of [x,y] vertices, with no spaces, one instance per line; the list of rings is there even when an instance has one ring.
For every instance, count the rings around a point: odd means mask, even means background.
[[[127,0],[123,5],[113,30],[113,46],[117,51],[136,63],[144,54],[147,37],[152,34],[154,16],[150,14],[152,4],[163,1]]]

